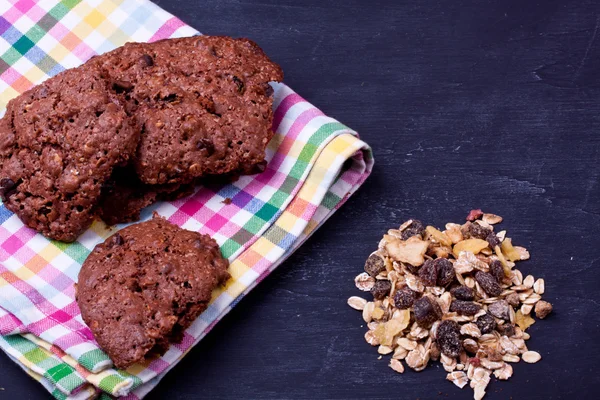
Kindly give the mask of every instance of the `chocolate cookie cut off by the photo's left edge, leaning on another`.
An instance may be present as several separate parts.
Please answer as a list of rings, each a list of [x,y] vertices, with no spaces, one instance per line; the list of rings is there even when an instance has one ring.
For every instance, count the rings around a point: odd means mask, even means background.
[[[0,196],[52,239],[73,241],[94,218],[102,184],[135,152],[139,130],[100,70],[48,79],[0,120]]]

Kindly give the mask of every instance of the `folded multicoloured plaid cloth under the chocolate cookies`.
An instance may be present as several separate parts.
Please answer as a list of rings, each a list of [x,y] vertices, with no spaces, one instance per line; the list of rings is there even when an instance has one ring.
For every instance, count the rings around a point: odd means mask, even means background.
[[[195,34],[145,0],[0,0],[0,109],[34,84],[127,41]],[[157,211],[211,235],[231,262],[232,279],[162,357],[114,369],[81,318],[73,283],[90,251],[111,234],[103,223],[65,244],[0,207],[0,347],[54,397],[142,398],[367,178],[373,158],[355,132],[284,84],[274,89],[276,133],[265,172],[142,213],[142,220]]]

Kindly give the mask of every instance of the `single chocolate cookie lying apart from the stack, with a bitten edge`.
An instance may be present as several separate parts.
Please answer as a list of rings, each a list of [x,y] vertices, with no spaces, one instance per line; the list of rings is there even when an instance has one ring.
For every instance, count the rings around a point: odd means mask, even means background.
[[[227,267],[209,236],[155,217],[96,246],[79,272],[77,303],[100,347],[127,368],[182,339]]]

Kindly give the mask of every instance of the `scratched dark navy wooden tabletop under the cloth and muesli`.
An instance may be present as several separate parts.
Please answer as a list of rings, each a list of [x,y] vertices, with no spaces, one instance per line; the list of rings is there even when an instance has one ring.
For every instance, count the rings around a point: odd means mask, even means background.
[[[472,398],[392,371],[365,343],[353,278],[410,217],[502,215],[546,280],[542,360],[486,399],[589,399],[600,385],[600,4],[596,0],[158,2],[206,34],[247,36],[288,85],[374,150],[365,185],[225,317],[148,399]],[[200,5],[201,4],[201,5]],[[0,398],[49,395],[0,356]]]

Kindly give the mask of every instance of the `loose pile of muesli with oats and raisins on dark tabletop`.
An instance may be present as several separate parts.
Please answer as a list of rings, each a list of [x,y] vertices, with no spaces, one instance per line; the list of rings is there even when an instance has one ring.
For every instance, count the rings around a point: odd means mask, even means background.
[[[446,379],[470,384],[481,399],[493,374],[511,377],[510,363],[535,363],[539,353],[525,344],[532,311],[544,319],[552,305],[541,300],[544,280],[515,269],[529,252],[513,246],[506,231],[494,232],[502,218],[472,210],[463,225],[446,230],[409,220],[390,229],[355,278],[373,301],[353,296],[369,330],[366,341],[379,354],[392,354],[390,367],[415,371],[440,360]]]

